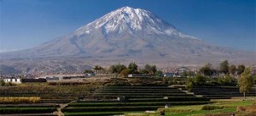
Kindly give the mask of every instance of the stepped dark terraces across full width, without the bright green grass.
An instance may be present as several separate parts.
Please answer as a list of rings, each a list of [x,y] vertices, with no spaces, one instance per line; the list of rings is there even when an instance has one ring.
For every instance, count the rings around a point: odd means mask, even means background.
[[[118,84],[109,80],[107,85],[106,82],[97,84],[98,81],[95,81],[92,84],[81,85],[45,83],[1,86],[0,114],[15,116],[26,113],[26,115],[52,116],[64,113],[67,116],[105,116],[155,111],[165,106],[207,104],[212,103],[210,99],[214,98],[242,96],[236,86],[194,86],[192,91],[202,97],[181,91],[185,89],[183,85],[168,87],[139,83],[137,85],[141,86],[132,86],[132,83],[126,83],[127,86],[112,86],[122,84],[119,80],[114,81]],[[146,83],[148,81],[151,80],[147,79]],[[256,96],[256,91],[253,90],[247,95]]]

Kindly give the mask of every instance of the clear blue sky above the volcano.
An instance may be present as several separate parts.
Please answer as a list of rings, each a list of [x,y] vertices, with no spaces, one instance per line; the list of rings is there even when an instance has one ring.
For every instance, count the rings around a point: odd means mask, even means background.
[[[0,52],[36,47],[124,6],[201,40],[256,51],[255,0],[0,0]]]

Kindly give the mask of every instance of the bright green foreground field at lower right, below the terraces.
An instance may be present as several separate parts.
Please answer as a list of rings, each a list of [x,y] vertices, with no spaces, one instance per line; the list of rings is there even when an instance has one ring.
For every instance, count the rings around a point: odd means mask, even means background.
[[[159,108],[155,113],[126,113],[126,116],[160,116],[160,111],[165,111],[166,116],[256,116],[256,97],[249,97],[243,101],[238,99],[214,100],[208,105],[174,106],[172,108]],[[203,110],[205,106],[216,109]],[[242,109],[244,108],[244,109]]]

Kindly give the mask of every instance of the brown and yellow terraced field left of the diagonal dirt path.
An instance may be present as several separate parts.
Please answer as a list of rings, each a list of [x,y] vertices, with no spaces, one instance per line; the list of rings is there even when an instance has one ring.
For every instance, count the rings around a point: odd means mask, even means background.
[[[0,87],[0,115],[54,116],[59,104],[88,95],[88,86],[20,85]],[[54,113],[55,112],[55,113]]]

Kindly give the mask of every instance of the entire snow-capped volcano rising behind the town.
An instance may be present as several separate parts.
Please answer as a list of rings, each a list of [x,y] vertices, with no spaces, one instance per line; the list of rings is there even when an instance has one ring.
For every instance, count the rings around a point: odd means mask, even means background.
[[[105,14],[67,36],[61,36],[38,47],[0,53],[0,58],[48,60],[65,58],[63,63],[66,67],[78,59],[97,64],[135,61],[168,66],[169,64],[214,64],[224,59],[229,59],[233,63],[254,64],[256,61],[254,55],[255,52],[217,47],[185,35],[148,10],[124,7]],[[26,68],[31,69],[28,61],[30,60],[19,62],[15,60],[17,65],[11,62],[11,66],[24,64]],[[36,63],[41,67],[49,67],[45,64],[48,61]],[[9,65],[5,62],[0,64]],[[52,67],[52,64],[49,65]],[[33,62],[32,67],[34,69],[38,66]]]

